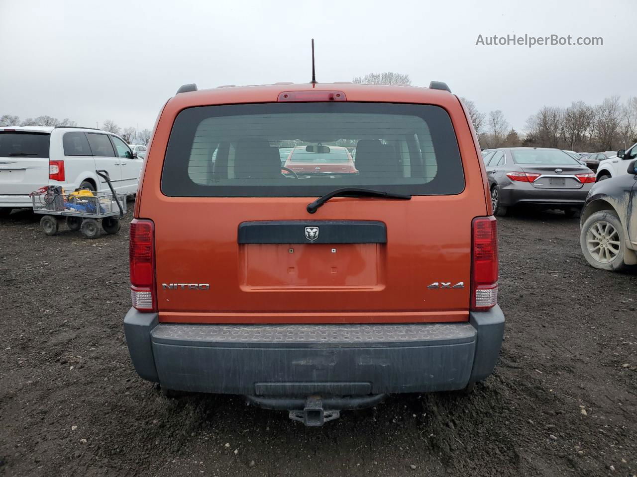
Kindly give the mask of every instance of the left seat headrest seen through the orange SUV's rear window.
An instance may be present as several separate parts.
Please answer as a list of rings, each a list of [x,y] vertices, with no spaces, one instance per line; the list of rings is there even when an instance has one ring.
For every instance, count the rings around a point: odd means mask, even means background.
[[[278,149],[265,139],[243,139],[234,153],[234,177],[238,179],[280,178],[281,160]]]

